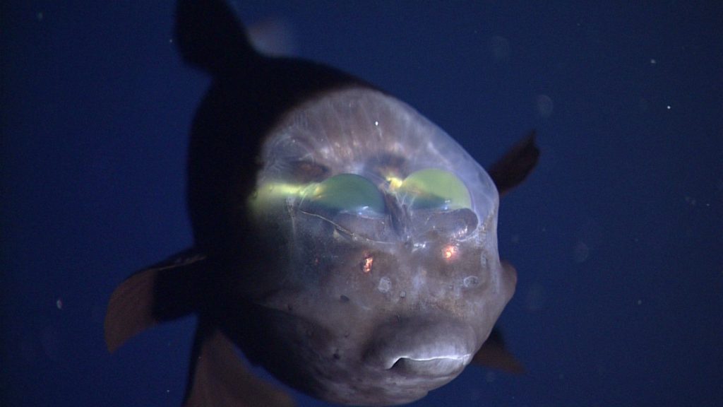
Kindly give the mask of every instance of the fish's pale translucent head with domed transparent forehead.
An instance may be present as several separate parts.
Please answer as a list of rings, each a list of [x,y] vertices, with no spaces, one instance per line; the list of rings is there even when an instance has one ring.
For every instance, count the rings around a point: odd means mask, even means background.
[[[364,87],[291,109],[260,159],[247,211],[268,261],[246,293],[266,327],[260,363],[319,398],[370,406],[460,374],[516,282],[497,253],[487,172]]]

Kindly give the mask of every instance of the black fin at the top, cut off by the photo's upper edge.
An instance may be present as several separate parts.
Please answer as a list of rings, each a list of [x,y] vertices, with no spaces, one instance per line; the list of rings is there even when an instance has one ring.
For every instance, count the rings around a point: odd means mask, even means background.
[[[179,0],[174,37],[184,61],[214,75],[259,55],[229,1]]]

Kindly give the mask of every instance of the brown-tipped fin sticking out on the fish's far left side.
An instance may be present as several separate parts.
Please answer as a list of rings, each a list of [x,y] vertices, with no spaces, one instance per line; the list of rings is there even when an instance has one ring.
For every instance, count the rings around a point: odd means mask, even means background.
[[[116,351],[159,322],[192,313],[200,289],[193,277],[204,267],[203,260],[202,253],[188,249],[122,282],[108,301],[104,327],[108,351]]]

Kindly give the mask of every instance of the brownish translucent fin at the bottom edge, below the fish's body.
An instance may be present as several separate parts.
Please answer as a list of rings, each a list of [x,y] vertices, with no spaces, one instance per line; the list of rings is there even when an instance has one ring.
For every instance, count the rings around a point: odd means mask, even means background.
[[[184,407],[292,407],[286,391],[250,372],[234,345],[199,318],[194,338]]]

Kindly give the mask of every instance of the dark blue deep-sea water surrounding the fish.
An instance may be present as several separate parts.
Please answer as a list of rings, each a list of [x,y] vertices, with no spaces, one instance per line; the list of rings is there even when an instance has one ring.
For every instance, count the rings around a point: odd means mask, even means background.
[[[528,372],[413,406],[723,406],[723,3],[245,1],[288,52],[363,77],[491,164]],[[179,406],[194,319],[103,343],[112,290],[191,243],[172,1],[0,5],[0,405]],[[295,45],[294,45],[295,44]],[[297,395],[299,406],[328,406]]]

